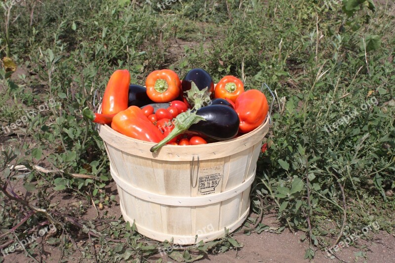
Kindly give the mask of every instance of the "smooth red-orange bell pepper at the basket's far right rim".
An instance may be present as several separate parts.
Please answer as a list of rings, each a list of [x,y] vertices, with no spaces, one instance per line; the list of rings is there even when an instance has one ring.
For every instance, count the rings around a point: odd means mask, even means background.
[[[265,94],[256,89],[241,93],[235,103],[235,111],[240,118],[238,130],[247,133],[261,125],[269,112]]]

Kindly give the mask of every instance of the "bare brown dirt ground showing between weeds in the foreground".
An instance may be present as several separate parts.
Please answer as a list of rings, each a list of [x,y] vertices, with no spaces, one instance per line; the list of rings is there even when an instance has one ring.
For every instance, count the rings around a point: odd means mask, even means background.
[[[23,191],[23,188],[20,189]],[[109,191],[116,190],[114,182],[112,182],[108,189]],[[58,206],[69,206],[77,201],[70,196],[55,195],[51,202],[59,202]],[[118,199],[118,197],[117,197]],[[119,201],[119,199],[117,200]],[[107,212],[107,216],[116,216],[118,218],[120,213],[119,203],[114,206],[106,207],[103,211],[99,211],[102,215]],[[96,211],[91,207],[84,219],[96,218]],[[276,215],[266,214],[262,223],[266,225],[276,226]],[[289,230],[284,230],[281,234],[270,232],[262,232],[260,234],[252,233],[247,236],[242,233],[236,233],[234,238],[243,245],[241,249],[230,250],[226,253],[218,255],[208,255],[199,263],[244,263],[244,262],[263,262],[263,263],[304,263],[309,262],[304,260],[305,250],[308,247],[307,242],[301,242],[300,238],[304,233],[297,232],[293,235]],[[395,262],[395,236],[384,231],[377,234],[371,233],[369,235],[371,241],[358,239],[356,245],[353,247],[344,248],[336,253],[336,257],[330,259],[324,251],[316,251],[316,256],[313,262],[316,263],[337,263],[337,262],[369,262],[369,263],[392,263]],[[39,243],[41,238],[37,240]],[[82,242],[82,241],[81,241]],[[61,251],[57,247],[52,247],[44,244],[44,259],[47,263],[59,262],[61,258]],[[37,254],[35,255],[37,256]],[[156,262],[160,259],[159,254],[154,255],[148,259],[149,262]],[[75,259],[64,257],[63,260],[74,263],[79,262]],[[31,258],[25,257],[23,252],[15,252],[9,254],[4,258],[5,263],[34,263]],[[82,262],[94,262],[84,260]],[[167,256],[162,258],[162,262],[174,262]]]

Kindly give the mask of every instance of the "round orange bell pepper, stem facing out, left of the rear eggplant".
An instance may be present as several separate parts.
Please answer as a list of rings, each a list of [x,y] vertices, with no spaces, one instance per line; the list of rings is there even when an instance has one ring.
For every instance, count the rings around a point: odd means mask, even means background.
[[[155,102],[171,102],[181,93],[181,81],[172,70],[153,71],[145,82],[148,97]]]

